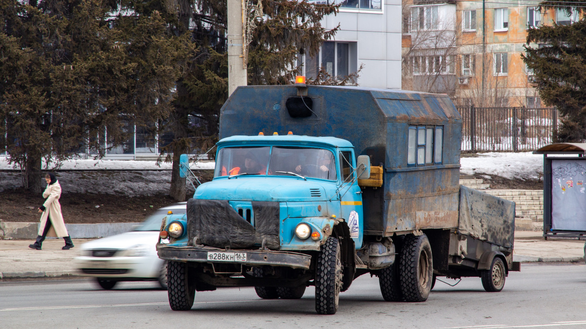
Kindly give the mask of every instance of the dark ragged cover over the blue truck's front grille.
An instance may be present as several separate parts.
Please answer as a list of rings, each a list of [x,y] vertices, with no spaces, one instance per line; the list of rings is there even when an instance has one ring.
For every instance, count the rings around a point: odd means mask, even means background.
[[[252,206],[255,227],[226,200],[189,199],[189,239],[198,237],[200,243],[216,248],[248,248],[266,239],[267,248],[279,248],[279,203],[253,201]]]

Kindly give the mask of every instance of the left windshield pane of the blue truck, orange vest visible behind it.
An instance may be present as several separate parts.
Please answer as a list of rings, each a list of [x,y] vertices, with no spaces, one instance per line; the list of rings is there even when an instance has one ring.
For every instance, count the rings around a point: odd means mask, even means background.
[[[265,175],[270,149],[270,146],[220,149],[214,177],[238,174]]]

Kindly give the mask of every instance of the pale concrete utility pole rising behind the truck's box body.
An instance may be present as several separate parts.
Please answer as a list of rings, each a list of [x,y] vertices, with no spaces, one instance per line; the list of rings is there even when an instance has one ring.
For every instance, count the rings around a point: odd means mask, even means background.
[[[228,95],[247,84],[243,54],[243,7],[245,0],[228,0]]]

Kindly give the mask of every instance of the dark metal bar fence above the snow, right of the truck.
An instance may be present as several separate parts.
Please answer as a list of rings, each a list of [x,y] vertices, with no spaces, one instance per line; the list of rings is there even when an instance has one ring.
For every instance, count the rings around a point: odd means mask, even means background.
[[[533,151],[553,143],[556,108],[456,107],[462,115],[463,151]]]

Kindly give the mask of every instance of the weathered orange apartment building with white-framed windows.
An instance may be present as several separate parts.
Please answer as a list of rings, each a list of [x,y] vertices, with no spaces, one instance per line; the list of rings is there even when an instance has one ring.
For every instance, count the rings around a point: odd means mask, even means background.
[[[445,92],[457,105],[541,107],[533,73],[521,59],[527,30],[570,24],[578,15],[559,9],[542,13],[536,5],[404,2],[403,88]]]

